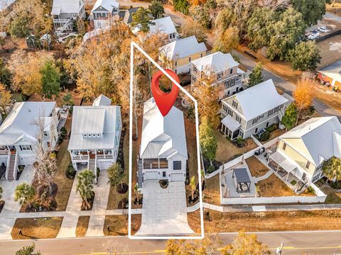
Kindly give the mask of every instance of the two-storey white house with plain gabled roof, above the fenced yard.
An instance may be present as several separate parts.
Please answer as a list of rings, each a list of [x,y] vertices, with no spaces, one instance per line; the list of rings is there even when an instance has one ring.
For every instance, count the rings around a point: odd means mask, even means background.
[[[283,118],[288,99],[276,91],[272,79],[222,100],[222,132],[230,139],[257,135]]]

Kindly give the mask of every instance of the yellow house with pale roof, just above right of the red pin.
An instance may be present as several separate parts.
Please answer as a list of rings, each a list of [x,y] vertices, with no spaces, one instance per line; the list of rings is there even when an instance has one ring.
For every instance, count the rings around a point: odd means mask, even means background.
[[[175,74],[190,73],[190,62],[206,55],[204,42],[197,42],[195,36],[175,40],[159,49],[158,60]]]

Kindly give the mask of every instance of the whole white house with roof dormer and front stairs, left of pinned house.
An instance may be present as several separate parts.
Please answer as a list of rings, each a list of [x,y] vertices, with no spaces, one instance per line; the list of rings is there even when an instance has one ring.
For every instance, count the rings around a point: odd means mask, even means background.
[[[74,106],[67,147],[74,169],[90,169],[95,176],[97,168],[105,170],[116,162],[122,128],[120,106],[103,99],[100,96],[92,106]]]

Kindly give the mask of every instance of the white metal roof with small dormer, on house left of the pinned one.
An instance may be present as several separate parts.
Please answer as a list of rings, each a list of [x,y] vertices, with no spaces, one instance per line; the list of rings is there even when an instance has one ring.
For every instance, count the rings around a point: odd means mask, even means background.
[[[74,106],[67,149],[112,149],[121,125],[119,106]],[[84,138],[83,134],[101,133],[102,137]],[[118,144],[119,141],[116,141]]]

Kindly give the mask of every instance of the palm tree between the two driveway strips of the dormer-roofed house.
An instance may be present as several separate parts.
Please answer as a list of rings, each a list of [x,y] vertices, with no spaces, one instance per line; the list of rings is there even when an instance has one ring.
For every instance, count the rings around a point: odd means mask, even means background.
[[[82,198],[82,202],[85,205],[85,208],[90,208],[89,200],[92,198],[94,184],[92,180],[94,179],[94,172],[87,169],[82,171],[77,176],[77,186],[76,193],[80,193],[80,197]]]

